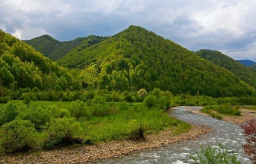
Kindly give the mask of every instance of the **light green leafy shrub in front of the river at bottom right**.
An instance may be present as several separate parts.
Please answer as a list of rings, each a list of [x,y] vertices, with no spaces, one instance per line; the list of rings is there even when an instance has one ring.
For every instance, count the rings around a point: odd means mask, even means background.
[[[190,156],[197,164],[240,164],[235,154],[230,155],[228,148],[224,148],[222,144],[219,144],[218,148],[203,148],[197,152],[196,156]]]

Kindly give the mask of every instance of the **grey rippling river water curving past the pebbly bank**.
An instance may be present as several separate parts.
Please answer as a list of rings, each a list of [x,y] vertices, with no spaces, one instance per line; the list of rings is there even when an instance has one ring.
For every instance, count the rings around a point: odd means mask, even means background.
[[[196,110],[200,107],[190,108]],[[194,155],[197,151],[200,151],[200,145],[203,145],[204,148],[208,145],[217,147],[218,143],[221,143],[224,147],[228,147],[230,153],[237,154],[240,162],[251,164],[248,156],[243,151],[242,143],[244,139],[242,129],[237,124],[220,121],[204,115],[193,114],[191,111],[186,110],[185,107],[174,108],[171,115],[190,124],[211,127],[214,132],[190,141],[180,141],[167,147],[152,150],[136,151],[128,156],[106,159],[96,163],[193,163],[190,155]]]

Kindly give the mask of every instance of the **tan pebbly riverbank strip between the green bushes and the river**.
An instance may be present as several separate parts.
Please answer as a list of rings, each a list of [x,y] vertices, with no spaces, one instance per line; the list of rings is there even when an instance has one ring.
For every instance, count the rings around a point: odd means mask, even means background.
[[[190,140],[210,133],[208,127],[192,126],[189,132],[174,135],[164,130],[158,135],[147,135],[142,141],[113,141],[97,145],[62,148],[53,151],[38,151],[2,156],[0,163],[82,163],[124,156],[133,151],[164,147],[173,142]]]

